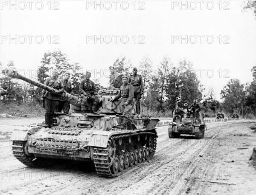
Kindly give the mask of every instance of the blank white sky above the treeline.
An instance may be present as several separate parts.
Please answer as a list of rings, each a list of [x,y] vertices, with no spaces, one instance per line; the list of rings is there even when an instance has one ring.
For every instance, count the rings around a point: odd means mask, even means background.
[[[152,62],[153,68],[156,69],[160,65],[160,61],[164,55],[168,55],[172,62],[177,65],[180,59],[186,58],[194,64],[195,70],[205,69],[200,77],[201,83],[207,88],[212,85],[215,88],[217,99],[220,98],[219,93],[227,81],[233,78],[240,79],[242,83],[252,81],[252,73],[250,69],[256,65],[256,21],[253,11],[242,12],[243,1],[182,1],[187,2],[188,9],[183,6],[180,9],[180,1],[167,0],[144,0],[135,2],[137,7],[134,10],[134,0],[128,1],[129,7],[125,10],[126,3],[117,2],[115,10],[115,2],[102,2],[102,10],[100,6],[96,9],[94,6],[87,7],[95,1],[82,0],[49,0],[41,3],[34,1],[29,9],[29,1],[12,1],[15,6],[9,7],[9,1],[1,1],[0,9],[0,62],[6,65],[10,60],[14,60],[16,68],[20,69],[38,69],[41,65],[40,61],[44,56],[44,52],[53,51],[60,48],[67,54],[71,62],[79,62],[85,69],[96,69],[97,72],[104,73],[109,65],[112,65],[119,54],[124,54],[131,59],[134,66],[138,66],[143,56],[148,55]],[[48,4],[47,4],[48,3]],[[111,3],[112,8],[107,10]],[[122,3],[122,7],[121,7]],[[194,8],[195,3],[197,8]],[[26,8],[21,10],[26,4]],[[49,10],[49,4],[51,9]],[[143,5],[144,4],[144,5]],[[175,6],[177,5],[178,6]],[[221,9],[220,9],[221,4]],[[37,5],[37,7],[35,6]],[[104,6],[105,5],[105,6]],[[207,6],[206,6],[207,5]],[[211,10],[211,6],[214,8]],[[53,10],[53,7],[59,8]],[[138,8],[144,8],[139,10]],[[172,7],[173,6],[173,7]],[[224,7],[229,10],[224,10]],[[9,42],[9,35],[12,38],[20,36]],[[32,43],[29,43],[29,37],[33,35]],[[35,41],[35,36],[40,35],[44,38],[41,44]],[[50,35],[51,43],[49,44]],[[52,44],[57,35],[59,37],[58,44]],[[96,35],[103,37],[110,35],[112,42],[107,44],[103,41],[101,44],[98,40],[96,44],[94,40],[87,40],[87,35]],[[117,43],[113,35],[119,35]],[[121,42],[122,35],[128,36],[127,44]],[[143,35],[144,44],[134,44],[136,35],[138,42]],[[180,44],[179,40],[173,40],[173,35],[185,37],[191,36],[191,42],[194,37],[198,40],[195,44],[188,41],[186,44],[183,40]],[[202,43],[200,43],[200,37]],[[214,37],[212,44],[207,43],[206,36]],[[220,39],[218,38],[221,35]],[[226,37],[224,37],[227,35]],[[27,37],[26,42],[22,44],[23,37]],[[106,37],[108,38],[108,37]],[[7,39],[7,40],[6,40]],[[227,40],[229,39],[229,40]],[[227,40],[229,44],[223,44]],[[38,42],[40,42],[40,37]],[[106,39],[108,41],[108,39]],[[123,39],[125,41],[125,38]],[[208,41],[211,41],[209,37]],[[206,70],[212,71],[206,75]],[[221,69],[221,78],[220,72]],[[225,70],[224,69],[228,69]],[[106,72],[105,72],[106,73]],[[224,78],[225,73],[227,73]],[[27,71],[29,75],[29,71]],[[95,75],[92,75],[94,79]],[[97,75],[100,76],[99,74]],[[100,81],[106,86],[108,78],[101,75]]]

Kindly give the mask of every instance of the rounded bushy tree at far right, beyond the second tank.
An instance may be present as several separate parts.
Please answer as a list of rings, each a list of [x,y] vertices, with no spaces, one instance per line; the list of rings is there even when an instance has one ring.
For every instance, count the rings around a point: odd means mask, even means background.
[[[244,85],[239,79],[231,79],[221,90],[221,99],[224,99],[223,108],[228,113],[233,113],[234,109],[241,109],[245,103]]]

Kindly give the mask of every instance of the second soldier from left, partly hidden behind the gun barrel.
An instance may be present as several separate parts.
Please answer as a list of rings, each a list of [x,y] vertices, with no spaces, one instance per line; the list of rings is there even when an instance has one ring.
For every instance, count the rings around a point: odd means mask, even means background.
[[[65,72],[64,78],[61,79],[61,83],[64,86],[64,92],[65,93],[70,93],[70,94],[74,94],[72,91],[72,84],[69,81],[70,79],[70,73],[69,71]],[[63,112],[65,114],[68,114],[69,110],[70,110],[70,104],[68,101],[63,101],[63,100],[59,100],[58,102],[58,108],[57,108],[57,112],[61,112],[61,110],[63,110]]]

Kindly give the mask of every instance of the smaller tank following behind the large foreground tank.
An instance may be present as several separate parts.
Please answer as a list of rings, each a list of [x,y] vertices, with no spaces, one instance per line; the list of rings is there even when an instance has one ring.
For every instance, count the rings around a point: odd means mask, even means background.
[[[199,117],[194,118],[192,111],[188,108],[188,104],[185,103],[184,107],[186,109],[183,109],[183,116],[180,119],[176,119],[175,122],[169,123],[169,138],[179,138],[181,134],[195,135],[196,139],[204,138],[206,124],[202,113],[199,112]]]

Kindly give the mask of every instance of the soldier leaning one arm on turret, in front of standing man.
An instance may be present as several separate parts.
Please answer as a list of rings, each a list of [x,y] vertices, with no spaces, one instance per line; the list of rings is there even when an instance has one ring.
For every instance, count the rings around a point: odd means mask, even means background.
[[[133,107],[134,88],[128,83],[128,76],[122,77],[123,85],[120,87],[119,93],[110,101],[117,100],[122,97],[122,113],[124,116],[129,117]]]

